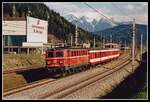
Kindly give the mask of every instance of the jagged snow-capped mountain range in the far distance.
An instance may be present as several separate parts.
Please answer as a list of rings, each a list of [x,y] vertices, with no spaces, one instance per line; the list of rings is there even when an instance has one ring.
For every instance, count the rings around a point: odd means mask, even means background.
[[[65,16],[66,20],[68,20],[69,22],[71,22],[72,24],[76,24],[77,25],[89,32],[95,32],[95,31],[101,31],[101,30],[105,30],[107,28],[111,28],[114,27],[114,25],[109,22],[108,20],[102,18],[100,20],[96,20],[96,19],[90,19],[88,17],[82,16],[82,17],[76,17],[73,14],[69,14],[67,16]]]

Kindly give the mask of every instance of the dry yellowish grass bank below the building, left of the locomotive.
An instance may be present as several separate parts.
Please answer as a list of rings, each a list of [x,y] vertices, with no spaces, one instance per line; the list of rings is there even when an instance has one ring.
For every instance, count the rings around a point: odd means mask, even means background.
[[[3,68],[18,68],[18,67],[32,67],[34,65],[45,65],[45,58],[41,54],[31,53],[27,54],[4,54]]]

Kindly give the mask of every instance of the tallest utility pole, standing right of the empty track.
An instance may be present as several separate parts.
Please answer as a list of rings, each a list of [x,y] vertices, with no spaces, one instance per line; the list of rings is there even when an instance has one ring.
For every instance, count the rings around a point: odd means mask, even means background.
[[[132,35],[132,71],[135,62],[135,19],[133,19],[133,35]]]

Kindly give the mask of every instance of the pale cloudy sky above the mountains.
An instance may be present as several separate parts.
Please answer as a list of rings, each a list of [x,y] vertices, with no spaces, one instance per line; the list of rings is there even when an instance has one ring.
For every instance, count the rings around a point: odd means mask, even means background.
[[[148,24],[147,2],[86,2],[115,21],[131,21]],[[86,16],[89,20],[101,19],[103,16],[87,7],[84,2],[46,2],[50,9],[66,16],[73,14],[77,17]]]

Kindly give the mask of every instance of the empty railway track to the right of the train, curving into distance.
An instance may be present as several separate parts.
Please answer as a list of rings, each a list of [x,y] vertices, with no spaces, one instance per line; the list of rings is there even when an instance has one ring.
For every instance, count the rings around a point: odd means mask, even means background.
[[[82,80],[78,83],[75,83],[67,88],[63,88],[61,90],[58,90],[56,92],[53,93],[46,93],[45,95],[41,95],[41,96],[37,96],[39,99],[61,99],[77,90],[82,89],[83,87],[86,87],[98,80],[102,80],[103,78],[106,78],[108,76],[110,76],[111,74],[113,74],[114,72],[121,70],[122,67],[128,65],[129,63],[131,63],[131,60],[125,61],[123,63],[120,64],[120,66],[117,66],[113,69],[109,69],[108,71],[103,71],[97,75],[91,76],[88,79]]]

